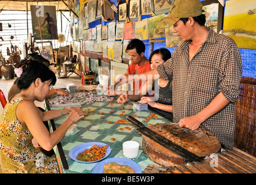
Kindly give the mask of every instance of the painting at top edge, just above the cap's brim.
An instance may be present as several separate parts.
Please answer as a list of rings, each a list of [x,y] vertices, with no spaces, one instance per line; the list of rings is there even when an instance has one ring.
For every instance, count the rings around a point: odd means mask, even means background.
[[[167,13],[171,8],[171,4],[174,1],[175,0],[165,0],[165,1],[151,0],[152,12],[156,15]]]

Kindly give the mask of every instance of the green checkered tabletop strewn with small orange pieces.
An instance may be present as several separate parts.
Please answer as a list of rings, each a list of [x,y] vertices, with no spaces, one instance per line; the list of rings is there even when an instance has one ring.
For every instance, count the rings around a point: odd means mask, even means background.
[[[72,92],[73,94],[78,92]],[[96,94],[96,92],[93,92]],[[54,98],[54,97],[52,97]],[[79,99],[78,99],[79,102]],[[128,122],[127,123],[115,123],[117,120],[127,120],[127,116],[138,116],[138,120],[149,126],[150,124],[157,123],[170,123],[170,121],[164,119],[163,117],[157,115],[157,117],[152,117],[151,119],[147,119],[150,114],[153,112],[151,110],[142,110],[138,111],[134,108],[133,101],[128,101],[124,104],[118,104],[117,98],[115,97],[113,101],[107,102],[93,102],[91,104],[83,104],[81,108],[84,112],[87,112],[88,109],[91,112],[88,113],[87,116],[84,116],[84,119],[80,120],[77,124],[77,130],[72,134],[66,134],[61,142],[61,147],[59,149],[55,147],[56,157],[59,160],[59,164],[61,165],[61,170],[63,173],[92,173],[92,170],[98,162],[93,163],[81,163],[72,160],[68,156],[68,152],[75,146],[80,145],[81,143],[86,142],[102,142],[106,145],[109,145],[111,148],[111,153],[107,158],[112,157],[122,157],[125,158],[122,154],[122,143],[127,140],[135,140],[139,143],[139,155],[136,158],[131,160],[135,161],[139,164],[140,168],[143,170],[149,164],[155,164],[151,161],[147,155],[142,150],[142,137],[136,131],[136,128],[132,127]],[[47,103],[45,103],[47,104]],[[47,106],[46,106],[47,108]],[[49,106],[48,106],[49,109]],[[53,109],[61,109],[61,108],[51,108]],[[95,110],[95,112],[92,112]],[[110,113],[110,111],[113,111]],[[104,112],[104,114],[100,114]],[[122,116],[121,116],[122,114]],[[59,117],[52,121],[53,127],[54,125],[58,128],[64,120],[66,120],[68,115]],[[100,118],[104,116],[104,118]],[[111,123],[107,123],[107,121],[111,121]],[[51,125],[51,124],[50,124]],[[125,127],[131,128],[131,130],[125,129]],[[120,129],[122,128],[122,129]],[[52,128],[53,129],[53,128]],[[111,138],[115,138],[116,140],[111,140]],[[64,160],[60,160],[61,154],[60,149],[64,151]],[[65,159],[66,158],[66,159]],[[66,160],[66,161],[65,161]],[[63,168],[63,161],[67,162],[68,168]]]

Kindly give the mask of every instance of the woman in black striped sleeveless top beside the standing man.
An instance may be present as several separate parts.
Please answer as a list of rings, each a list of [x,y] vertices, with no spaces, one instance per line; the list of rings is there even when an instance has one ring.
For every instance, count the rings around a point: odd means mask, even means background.
[[[149,57],[149,61],[151,63],[151,68],[154,69],[158,65],[167,61],[171,58],[171,53],[169,50],[165,48],[154,50]],[[140,92],[145,91],[149,92],[150,84],[143,86]],[[151,88],[152,90],[152,88]],[[155,112],[162,114],[168,120],[172,121],[172,79],[168,79],[167,81],[163,78],[160,78],[154,82],[154,97],[143,96],[142,93],[139,95],[127,95],[121,94],[118,97],[118,103],[124,103],[127,99],[131,100],[139,100],[140,103],[147,103],[150,105]],[[152,94],[152,93],[151,93]]]

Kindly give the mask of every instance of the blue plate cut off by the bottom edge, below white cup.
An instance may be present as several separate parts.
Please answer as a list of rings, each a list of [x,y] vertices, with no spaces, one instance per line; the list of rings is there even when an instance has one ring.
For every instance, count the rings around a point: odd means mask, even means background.
[[[114,158],[107,158],[106,160],[100,161],[92,170],[92,173],[103,173],[103,169],[105,164],[109,164],[109,162],[116,162],[120,165],[128,165],[132,169],[134,169],[135,173],[142,173],[140,166],[128,158],[120,158],[120,157],[114,157]]]

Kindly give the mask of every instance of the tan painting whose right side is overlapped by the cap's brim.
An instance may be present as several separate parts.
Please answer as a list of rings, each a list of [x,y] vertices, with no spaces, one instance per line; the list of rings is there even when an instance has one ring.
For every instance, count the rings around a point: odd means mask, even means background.
[[[160,14],[158,16],[153,16],[149,18],[148,27],[148,38],[157,39],[165,36],[164,28],[159,28],[158,23],[165,18],[165,14]],[[136,28],[136,27],[135,27]]]

